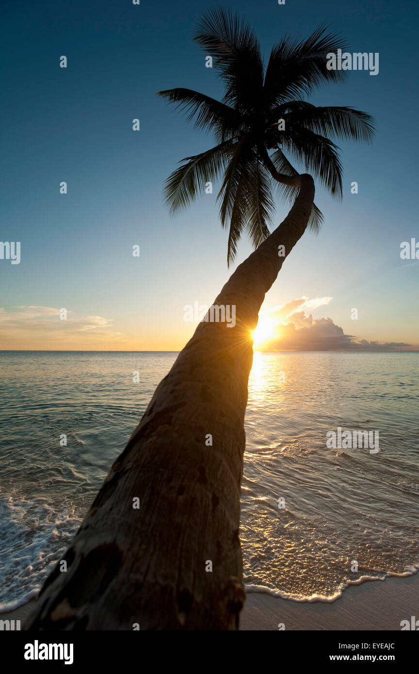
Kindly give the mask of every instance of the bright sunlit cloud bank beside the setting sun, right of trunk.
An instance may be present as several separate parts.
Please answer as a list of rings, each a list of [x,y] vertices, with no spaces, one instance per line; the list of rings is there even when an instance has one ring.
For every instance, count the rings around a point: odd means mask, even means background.
[[[327,305],[332,299],[322,297],[309,300],[302,297],[271,309],[267,315],[276,321],[274,336],[258,345],[258,348],[264,351],[388,351],[412,348],[412,344],[404,342],[370,342],[346,335],[331,318],[315,319],[311,313],[307,314],[303,310]]]

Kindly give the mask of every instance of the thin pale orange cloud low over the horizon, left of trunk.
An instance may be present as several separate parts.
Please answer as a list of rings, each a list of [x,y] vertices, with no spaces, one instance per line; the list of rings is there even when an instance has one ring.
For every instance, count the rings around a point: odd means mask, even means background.
[[[37,305],[0,308],[0,349],[121,349],[127,340],[112,328],[112,319],[82,316],[60,309]]]

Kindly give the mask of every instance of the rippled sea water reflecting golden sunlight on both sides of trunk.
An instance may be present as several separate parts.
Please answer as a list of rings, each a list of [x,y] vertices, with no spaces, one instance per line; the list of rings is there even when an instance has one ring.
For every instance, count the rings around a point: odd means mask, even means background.
[[[175,358],[0,352],[0,611],[37,594]],[[418,401],[418,353],[255,353],[249,590],[333,601],[351,582],[419,568]],[[379,452],[327,449],[337,427],[378,430]]]

